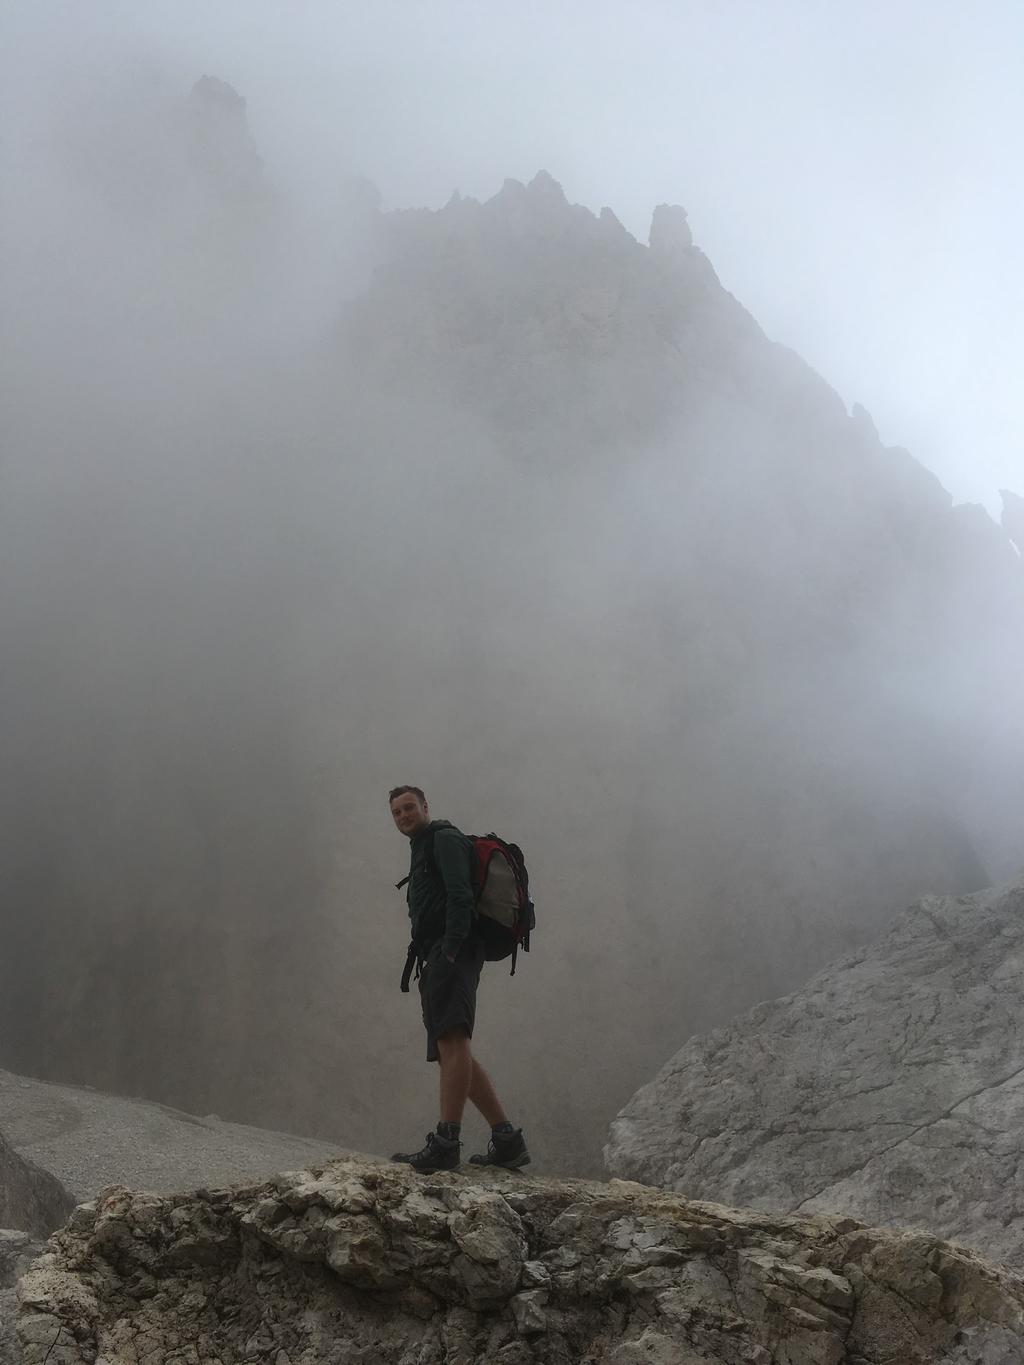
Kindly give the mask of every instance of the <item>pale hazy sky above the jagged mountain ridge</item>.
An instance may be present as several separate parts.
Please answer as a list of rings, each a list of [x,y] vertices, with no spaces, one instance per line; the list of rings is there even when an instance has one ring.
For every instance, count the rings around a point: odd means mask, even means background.
[[[202,74],[311,201],[486,198],[539,168],[722,283],[957,501],[1024,494],[1020,0],[3,0],[19,101]],[[4,186],[4,194],[16,187]],[[329,198],[329,195],[328,195]]]

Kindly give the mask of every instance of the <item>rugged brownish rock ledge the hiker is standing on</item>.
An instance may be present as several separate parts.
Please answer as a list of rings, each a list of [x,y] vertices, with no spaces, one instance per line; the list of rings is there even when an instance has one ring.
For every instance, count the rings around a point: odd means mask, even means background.
[[[365,1162],[191,1194],[113,1188],[19,1297],[27,1365],[1024,1358],[1024,1280],[934,1237]]]

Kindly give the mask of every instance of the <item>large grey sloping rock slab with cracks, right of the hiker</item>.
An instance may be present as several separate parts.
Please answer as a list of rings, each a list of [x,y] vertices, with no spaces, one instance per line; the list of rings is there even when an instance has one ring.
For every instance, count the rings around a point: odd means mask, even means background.
[[[928,897],[804,990],[691,1039],[605,1156],[694,1198],[840,1208],[1024,1265],[1024,882]]]

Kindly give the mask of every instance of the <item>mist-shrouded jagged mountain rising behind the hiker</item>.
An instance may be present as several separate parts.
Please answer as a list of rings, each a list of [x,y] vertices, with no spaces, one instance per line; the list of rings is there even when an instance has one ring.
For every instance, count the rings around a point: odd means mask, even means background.
[[[953,506],[681,209],[644,244],[543,172],[440,212],[354,182],[328,231],[210,76],[23,157],[0,1063],[415,1134],[415,782],[527,852],[481,1055],[586,1170],[689,1033],[1020,864],[1020,500]]]

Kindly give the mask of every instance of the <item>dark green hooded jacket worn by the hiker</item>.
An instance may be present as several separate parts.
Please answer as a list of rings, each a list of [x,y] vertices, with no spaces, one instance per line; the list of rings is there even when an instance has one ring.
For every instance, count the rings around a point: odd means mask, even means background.
[[[433,857],[429,856],[433,841]],[[431,820],[410,841],[408,917],[426,957],[438,939],[455,957],[472,932],[472,844],[451,820]]]

